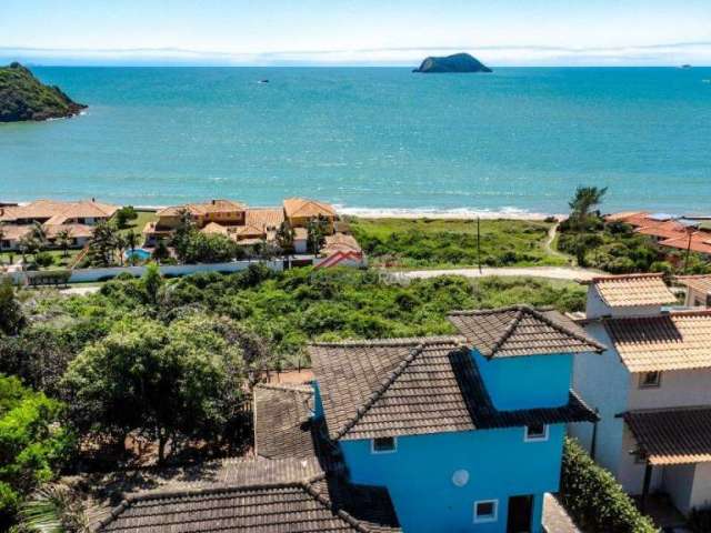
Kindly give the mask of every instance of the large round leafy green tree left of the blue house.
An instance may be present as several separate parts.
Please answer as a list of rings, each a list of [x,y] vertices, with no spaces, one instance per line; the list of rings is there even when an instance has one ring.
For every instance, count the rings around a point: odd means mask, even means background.
[[[90,344],[64,375],[74,423],[83,431],[124,435],[138,430],[166,446],[200,438],[216,442],[238,414],[244,384],[240,346],[214,319],[191,315],[166,326],[124,320]]]

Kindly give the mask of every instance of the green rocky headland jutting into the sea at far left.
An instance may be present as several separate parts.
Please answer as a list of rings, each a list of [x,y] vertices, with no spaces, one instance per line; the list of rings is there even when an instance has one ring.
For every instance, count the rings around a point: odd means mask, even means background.
[[[72,117],[87,105],[39,81],[20,63],[0,68],[0,122]]]

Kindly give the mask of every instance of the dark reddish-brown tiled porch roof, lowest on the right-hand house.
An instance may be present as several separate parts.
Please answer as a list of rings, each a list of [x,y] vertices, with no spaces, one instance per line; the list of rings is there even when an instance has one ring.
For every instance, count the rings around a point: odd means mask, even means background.
[[[711,462],[711,406],[632,411],[623,418],[651,464]]]

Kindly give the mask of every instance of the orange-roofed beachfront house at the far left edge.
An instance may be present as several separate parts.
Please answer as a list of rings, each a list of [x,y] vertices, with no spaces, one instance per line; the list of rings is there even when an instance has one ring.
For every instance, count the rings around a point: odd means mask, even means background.
[[[97,202],[94,199],[77,202],[37,200],[26,205],[0,208],[0,222],[20,225],[34,222],[42,224],[49,222],[50,225],[96,225],[109,220],[118,210],[117,205]]]

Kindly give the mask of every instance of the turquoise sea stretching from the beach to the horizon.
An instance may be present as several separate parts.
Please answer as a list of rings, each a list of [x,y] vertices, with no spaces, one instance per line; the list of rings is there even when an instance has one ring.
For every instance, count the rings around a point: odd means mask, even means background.
[[[711,68],[33,70],[90,107],[0,124],[0,200],[560,213],[595,184],[711,214]]]

